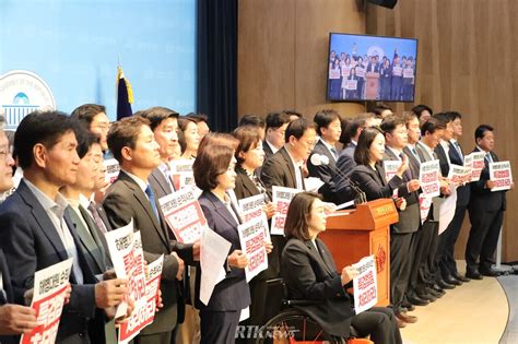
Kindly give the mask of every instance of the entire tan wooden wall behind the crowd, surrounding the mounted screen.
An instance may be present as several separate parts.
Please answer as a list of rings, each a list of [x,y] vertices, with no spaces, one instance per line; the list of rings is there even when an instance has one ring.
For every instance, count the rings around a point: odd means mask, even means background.
[[[369,5],[366,13],[358,11],[356,0],[239,0],[238,112],[266,115],[293,108],[313,118],[323,107],[343,116],[364,111],[363,104],[326,102],[329,32],[416,37],[415,103],[463,114],[464,150],[473,147],[479,123],[494,126],[496,153],[516,167],[516,0],[399,0],[395,10]],[[398,111],[411,107],[395,105]],[[505,261],[518,260],[518,230],[513,225],[518,222],[517,202],[518,191],[509,192]]]

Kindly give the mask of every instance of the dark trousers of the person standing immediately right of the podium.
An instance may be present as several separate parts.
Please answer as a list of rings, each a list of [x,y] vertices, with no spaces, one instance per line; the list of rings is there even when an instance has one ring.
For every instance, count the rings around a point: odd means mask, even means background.
[[[409,286],[413,244],[413,233],[390,233],[390,303],[395,313],[401,312]]]

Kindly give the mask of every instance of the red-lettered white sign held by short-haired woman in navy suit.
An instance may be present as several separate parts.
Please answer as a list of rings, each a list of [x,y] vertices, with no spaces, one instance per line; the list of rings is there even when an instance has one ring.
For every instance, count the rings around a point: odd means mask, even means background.
[[[261,217],[256,217],[237,226],[242,251],[248,258],[248,266],[245,268],[247,282],[268,269],[264,230],[264,223]]]

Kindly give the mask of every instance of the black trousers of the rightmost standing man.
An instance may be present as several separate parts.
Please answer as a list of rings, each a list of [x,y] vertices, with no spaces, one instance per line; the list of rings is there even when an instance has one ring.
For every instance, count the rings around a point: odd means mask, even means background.
[[[466,264],[470,269],[476,266],[491,268],[504,221],[504,212],[484,212],[470,209],[469,215],[471,230],[466,246]]]

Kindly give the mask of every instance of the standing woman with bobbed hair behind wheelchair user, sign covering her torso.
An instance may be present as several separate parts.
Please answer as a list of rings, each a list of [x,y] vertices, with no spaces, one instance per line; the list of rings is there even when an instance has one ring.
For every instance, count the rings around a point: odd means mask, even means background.
[[[239,141],[235,157],[236,164],[236,188],[234,192],[238,200],[246,199],[257,194],[264,195],[263,211],[268,218],[275,213],[275,207],[262,186],[261,180],[256,175],[256,169],[262,166],[264,152],[262,151],[261,137],[258,128],[251,126],[238,127],[234,131],[234,137]],[[278,257],[276,251],[268,256],[268,261]],[[275,277],[271,269],[261,272],[249,282],[251,305],[250,319],[247,323],[251,325],[262,325],[268,319],[267,313],[267,281]],[[279,305],[272,305],[274,307]]]

